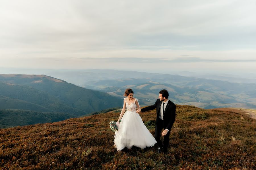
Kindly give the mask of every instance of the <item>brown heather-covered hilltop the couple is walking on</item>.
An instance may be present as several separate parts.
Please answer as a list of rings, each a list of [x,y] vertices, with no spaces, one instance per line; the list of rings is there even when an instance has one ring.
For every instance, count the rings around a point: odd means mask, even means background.
[[[109,122],[119,112],[111,111],[0,129],[0,169],[256,169],[255,120],[220,109],[176,110],[166,155],[156,146],[118,152]],[[155,110],[140,115],[154,134]]]

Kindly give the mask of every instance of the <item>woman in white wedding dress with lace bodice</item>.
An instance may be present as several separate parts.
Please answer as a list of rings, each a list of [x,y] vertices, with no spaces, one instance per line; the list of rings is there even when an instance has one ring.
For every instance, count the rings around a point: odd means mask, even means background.
[[[117,121],[118,131],[115,131],[114,145],[117,150],[137,146],[141,149],[146,146],[154,146],[156,139],[144,125],[141,116],[136,112],[136,106],[140,111],[138,99],[133,97],[133,90],[126,89],[123,99],[123,109]],[[125,107],[127,111],[125,112]],[[125,112],[125,113],[124,113]],[[122,120],[120,124],[119,120]]]

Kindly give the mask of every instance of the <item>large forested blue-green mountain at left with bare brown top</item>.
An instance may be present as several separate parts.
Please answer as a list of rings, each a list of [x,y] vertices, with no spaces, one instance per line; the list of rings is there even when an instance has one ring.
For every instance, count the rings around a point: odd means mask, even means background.
[[[77,117],[122,105],[120,97],[46,75],[0,75],[0,109],[66,113]]]

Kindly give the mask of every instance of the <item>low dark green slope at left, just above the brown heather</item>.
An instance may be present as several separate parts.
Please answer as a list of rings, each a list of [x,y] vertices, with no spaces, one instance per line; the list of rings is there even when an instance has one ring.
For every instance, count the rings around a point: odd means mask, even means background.
[[[0,109],[0,129],[38,123],[58,122],[74,117],[77,116],[67,113]]]

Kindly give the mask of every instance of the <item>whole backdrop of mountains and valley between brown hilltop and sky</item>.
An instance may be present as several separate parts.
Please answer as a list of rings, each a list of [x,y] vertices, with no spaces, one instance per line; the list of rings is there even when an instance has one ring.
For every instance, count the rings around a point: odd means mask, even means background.
[[[0,128],[61,121],[121,107],[126,88],[133,89],[141,106],[154,104],[159,91],[167,89],[170,100],[179,105],[256,109],[254,83],[116,70],[49,75],[0,75]],[[20,123],[11,121],[13,118]]]

